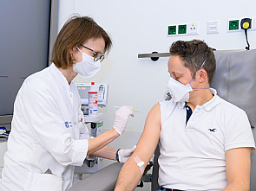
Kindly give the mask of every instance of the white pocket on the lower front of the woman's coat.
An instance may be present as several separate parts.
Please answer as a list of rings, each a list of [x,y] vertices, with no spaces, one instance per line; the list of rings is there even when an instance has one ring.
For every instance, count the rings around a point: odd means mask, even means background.
[[[62,191],[62,182],[56,175],[34,173],[31,191]]]

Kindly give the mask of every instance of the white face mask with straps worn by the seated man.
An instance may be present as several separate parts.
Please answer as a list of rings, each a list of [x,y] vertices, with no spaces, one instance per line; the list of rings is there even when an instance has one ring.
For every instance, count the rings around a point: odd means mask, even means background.
[[[204,66],[207,59],[204,60],[202,66],[200,69]],[[196,74],[200,71],[200,69],[195,73]],[[194,78],[195,78],[194,76]],[[190,81],[189,84],[183,85],[180,81],[174,80],[173,77],[170,77],[168,84],[167,84],[167,90],[171,94],[172,99],[174,102],[188,102],[189,100],[189,92],[192,92],[193,90],[207,90],[209,88],[203,88],[203,89],[192,89],[190,84],[193,82],[194,78]]]

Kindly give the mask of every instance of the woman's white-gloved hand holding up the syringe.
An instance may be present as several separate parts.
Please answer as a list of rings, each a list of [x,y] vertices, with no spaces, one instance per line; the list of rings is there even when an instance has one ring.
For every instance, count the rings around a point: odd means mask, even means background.
[[[135,111],[133,111],[131,106],[124,105],[121,106],[119,110],[115,111],[115,123],[113,127],[119,135],[125,131],[129,116],[135,117]]]

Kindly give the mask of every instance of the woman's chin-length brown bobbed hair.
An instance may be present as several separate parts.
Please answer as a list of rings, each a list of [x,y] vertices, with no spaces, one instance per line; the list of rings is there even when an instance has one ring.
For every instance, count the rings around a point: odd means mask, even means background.
[[[54,62],[56,67],[63,69],[72,67],[74,61],[70,54],[71,50],[91,38],[101,37],[105,41],[104,53],[106,53],[112,47],[112,41],[107,32],[89,16],[72,16],[56,37],[50,61]]]

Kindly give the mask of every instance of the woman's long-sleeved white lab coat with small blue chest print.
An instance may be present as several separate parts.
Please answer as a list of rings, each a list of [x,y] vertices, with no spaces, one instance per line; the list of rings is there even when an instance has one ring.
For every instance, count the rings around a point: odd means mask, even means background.
[[[54,64],[28,77],[14,105],[3,190],[70,188],[89,147],[88,140],[79,140],[81,119],[75,83],[69,85]],[[43,174],[47,169],[52,174]]]

